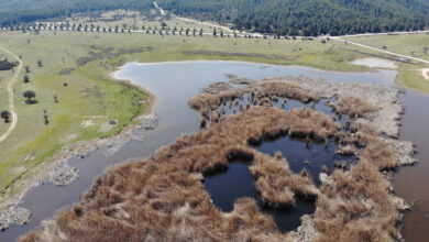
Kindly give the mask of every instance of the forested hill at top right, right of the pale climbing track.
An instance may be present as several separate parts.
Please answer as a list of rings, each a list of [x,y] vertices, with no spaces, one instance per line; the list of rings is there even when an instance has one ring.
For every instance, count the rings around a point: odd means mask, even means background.
[[[282,35],[351,34],[429,26],[429,0],[161,0],[179,15]]]

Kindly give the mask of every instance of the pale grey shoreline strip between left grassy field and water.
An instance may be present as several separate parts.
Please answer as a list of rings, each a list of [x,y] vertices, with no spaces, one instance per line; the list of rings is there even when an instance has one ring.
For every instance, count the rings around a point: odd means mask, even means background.
[[[114,69],[118,68],[114,67]],[[22,226],[29,221],[31,218],[31,211],[20,207],[20,204],[22,204],[23,197],[33,187],[42,186],[44,184],[67,186],[68,184],[79,178],[79,170],[69,165],[69,158],[76,156],[85,157],[96,150],[106,147],[108,145],[122,145],[128,142],[127,138],[132,139],[133,131],[136,129],[136,127],[139,129],[139,125],[142,125],[146,119],[157,119],[156,114],[152,113],[155,96],[150,90],[147,90],[142,85],[134,85],[130,80],[112,78],[110,75],[107,76],[110,81],[117,81],[122,85],[132,86],[138,88],[141,92],[146,94],[148,96],[146,110],[130,120],[130,122],[125,124],[117,134],[109,138],[98,138],[91,141],[78,141],[76,143],[67,144],[63,146],[59,152],[51,156],[46,162],[26,173],[24,177],[30,176],[30,178],[22,178],[18,180],[16,184],[13,185],[14,189],[18,191],[13,193],[12,196],[1,200],[0,202],[0,231],[8,229],[8,227],[12,223]],[[133,122],[135,121],[140,123],[134,124]],[[156,124],[153,125],[153,129],[156,128]]]

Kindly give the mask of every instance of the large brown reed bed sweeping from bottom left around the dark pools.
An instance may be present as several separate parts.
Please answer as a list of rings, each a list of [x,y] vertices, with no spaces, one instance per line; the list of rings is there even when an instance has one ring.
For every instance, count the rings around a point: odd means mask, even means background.
[[[285,161],[248,146],[251,139],[301,125],[299,119],[307,120],[304,130],[317,135],[333,134],[338,129],[331,118],[312,110],[253,107],[177,139],[146,162],[107,169],[79,204],[21,241],[44,241],[46,237],[69,241],[285,240],[273,219],[262,215],[251,199],[239,200],[231,213],[219,211],[194,174],[223,169],[234,158],[254,160],[257,189],[268,204],[290,202],[294,193],[316,196],[318,190],[309,177],[293,174]]]

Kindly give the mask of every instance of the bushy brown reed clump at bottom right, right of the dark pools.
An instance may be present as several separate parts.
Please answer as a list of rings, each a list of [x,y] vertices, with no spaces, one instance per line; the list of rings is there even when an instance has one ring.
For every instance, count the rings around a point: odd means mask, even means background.
[[[378,167],[360,161],[350,172],[337,169],[333,185],[322,186],[314,216],[317,241],[394,241],[400,219],[389,182]]]

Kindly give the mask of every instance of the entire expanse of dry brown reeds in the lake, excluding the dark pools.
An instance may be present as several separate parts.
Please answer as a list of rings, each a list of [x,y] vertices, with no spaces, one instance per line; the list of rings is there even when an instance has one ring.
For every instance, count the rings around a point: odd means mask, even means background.
[[[277,97],[304,102],[318,99],[306,95],[298,86],[279,81],[246,82],[249,86],[235,90],[229,85],[216,84],[197,95],[189,105],[201,111],[204,122],[211,119],[210,125],[177,139],[148,161],[107,169],[79,204],[59,213],[54,221],[44,222],[42,230],[21,241],[397,239],[400,235],[397,228],[399,207],[392,195],[388,177],[380,172],[396,166],[395,152],[377,136],[377,130],[363,119],[353,119],[342,133],[340,124],[324,113],[312,109],[286,112],[272,107]],[[245,92],[251,94],[251,99],[258,106],[242,108],[239,114],[229,118],[221,117],[222,112],[213,112],[227,102],[237,102]],[[353,117],[370,110],[360,108],[356,111],[354,105],[342,103],[339,107]],[[350,170],[336,169],[326,178],[329,183],[322,183],[319,189],[306,169],[294,174],[280,153],[271,157],[250,146],[264,138],[280,134],[317,141],[336,138],[340,145],[355,147],[360,161]],[[290,207],[297,196],[317,199],[311,221],[305,222],[314,224],[317,232],[282,234],[273,219],[261,213],[250,198],[238,199],[232,212],[218,210],[202,187],[201,174],[224,169],[230,161],[238,158],[253,161],[250,169],[266,206]],[[327,172],[324,167],[326,176]],[[306,233],[306,229],[298,231]]]

